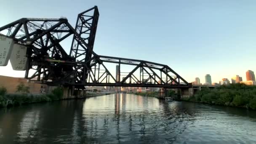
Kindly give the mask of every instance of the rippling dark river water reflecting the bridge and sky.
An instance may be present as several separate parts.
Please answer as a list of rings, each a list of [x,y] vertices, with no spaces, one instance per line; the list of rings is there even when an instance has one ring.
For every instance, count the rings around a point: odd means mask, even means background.
[[[1,109],[0,143],[255,143],[255,115],[115,94]]]

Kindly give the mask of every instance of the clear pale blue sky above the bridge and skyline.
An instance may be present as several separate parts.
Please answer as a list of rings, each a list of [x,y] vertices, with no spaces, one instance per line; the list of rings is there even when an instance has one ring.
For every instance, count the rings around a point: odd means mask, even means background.
[[[188,82],[256,70],[256,0],[3,0],[0,27],[21,17],[59,18],[97,5],[94,51],[173,68]],[[70,45],[67,45],[69,48]],[[8,67],[0,75],[23,77]]]

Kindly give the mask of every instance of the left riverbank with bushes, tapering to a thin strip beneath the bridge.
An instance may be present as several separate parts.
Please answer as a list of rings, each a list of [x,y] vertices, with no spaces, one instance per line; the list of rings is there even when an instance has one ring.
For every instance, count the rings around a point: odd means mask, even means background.
[[[0,107],[10,107],[23,104],[43,103],[49,101],[60,101],[68,99],[85,99],[94,96],[103,96],[112,93],[91,93],[85,96],[72,96],[63,98],[62,88],[55,88],[51,93],[31,94],[31,93],[6,93],[5,88],[0,88]]]

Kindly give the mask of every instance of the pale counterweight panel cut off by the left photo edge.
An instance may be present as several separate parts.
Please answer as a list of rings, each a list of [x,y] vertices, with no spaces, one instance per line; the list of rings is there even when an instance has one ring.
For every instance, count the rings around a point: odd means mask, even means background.
[[[11,56],[13,39],[0,35],[0,66],[6,66]]]

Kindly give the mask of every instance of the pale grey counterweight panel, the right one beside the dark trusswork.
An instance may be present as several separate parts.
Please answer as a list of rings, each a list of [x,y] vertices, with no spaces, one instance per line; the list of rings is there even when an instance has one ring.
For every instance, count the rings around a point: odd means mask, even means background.
[[[13,70],[25,70],[27,65],[27,47],[24,45],[13,44],[10,61]]]

